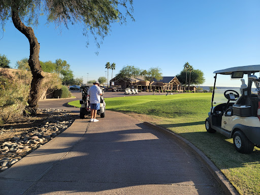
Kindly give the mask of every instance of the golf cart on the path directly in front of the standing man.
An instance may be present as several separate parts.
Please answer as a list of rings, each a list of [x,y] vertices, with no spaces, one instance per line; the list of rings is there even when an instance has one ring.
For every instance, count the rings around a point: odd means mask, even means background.
[[[82,100],[80,100],[81,108],[80,108],[80,118],[85,118],[85,115],[90,115],[90,96],[88,95],[88,89],[93,84],[85,84],[81,86],[82,89]],[[104,94],[104,92],[103,92]],[[105,117],[106,112],[106,103],[103,98],[103,95],[100,96],[100,110],[96,112],[96,114],[99,114],[101,118]]]

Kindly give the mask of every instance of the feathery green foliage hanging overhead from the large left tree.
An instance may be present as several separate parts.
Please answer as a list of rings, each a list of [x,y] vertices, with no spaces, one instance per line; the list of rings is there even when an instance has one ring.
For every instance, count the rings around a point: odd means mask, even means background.
[[[18,8],[18,9],[17,9]],[[29,26],[37,26],[39,16],[46,15],[48,22],[54,22],[56,26],[69,24],[80,24],[83,35],[93,35],[99,47],[98,37],[104,39],[109,35],[112,23],[125,23],[126,17],[132,16],[132,0],[99,0],[99,1],[0,1],[0,21],[2,27],[8,21],[15,10],[18,15]],[[122,10],[122,11],[121,11]],[[88,43],[87,43],[88,44]]]

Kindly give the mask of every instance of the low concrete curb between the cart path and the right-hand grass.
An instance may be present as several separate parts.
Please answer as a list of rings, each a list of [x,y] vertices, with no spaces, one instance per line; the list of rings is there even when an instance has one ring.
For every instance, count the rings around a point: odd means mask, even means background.
[[[194,146],[189,141],[185,140],[184,138],[178,136],[177,134],[173,133],[172,131],[158,126],[154,125],[150,122],[144,122],[144,124],[153,127],[157,131],[166,134],[167,136],[170,136],[175,141],[182,144],[182,146],[191,149],[192,153],[195,154],[201,161],[204,163],[207,167],[207,169],[210,171],[210,173],[213,175],[213,177],[217,180],[221,188],[224,190],[225,194],[227,195],[239,195],[238,191],[235,189],[235,187],[229,182],[228,179],[222,174],[222,172],[212,163],[212,161],[196,146]]]

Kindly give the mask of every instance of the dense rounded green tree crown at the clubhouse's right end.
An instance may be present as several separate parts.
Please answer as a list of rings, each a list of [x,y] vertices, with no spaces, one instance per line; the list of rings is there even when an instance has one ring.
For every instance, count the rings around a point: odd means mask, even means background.
[[[188,72],[188,76],[190,74],[190,84],[200,85],[205,82],[204,73],[201,70],[193,70],[191,73]],[[185,85],[186,82],[186,71],[182,70],[180,74],[176,75],[177,79],[180,81],[182,85]]]

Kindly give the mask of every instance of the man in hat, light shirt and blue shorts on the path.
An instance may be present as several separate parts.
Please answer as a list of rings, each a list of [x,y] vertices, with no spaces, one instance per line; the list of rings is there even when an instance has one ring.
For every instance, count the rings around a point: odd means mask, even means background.
[[[93,86],[88,89],[88,94],[90,96],[90,122],[98,122],[96,117],[96,111],[100,110],[100,95],[102,95],[102,90],[99,87],[100,83],[98,81],[93,83]]]

